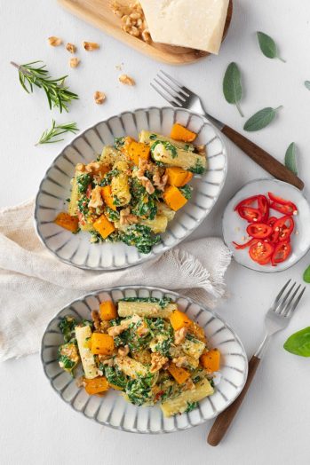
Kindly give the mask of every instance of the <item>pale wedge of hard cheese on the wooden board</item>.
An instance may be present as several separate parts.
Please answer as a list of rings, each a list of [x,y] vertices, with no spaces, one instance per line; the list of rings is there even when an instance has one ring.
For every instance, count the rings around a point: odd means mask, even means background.
[[[219,53],[229,0],[140,0],[154,42]]]

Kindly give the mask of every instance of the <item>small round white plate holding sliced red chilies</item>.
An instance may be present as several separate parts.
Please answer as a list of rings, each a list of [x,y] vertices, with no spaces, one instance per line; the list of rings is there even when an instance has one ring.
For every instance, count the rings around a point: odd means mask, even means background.
[[[247,197],[257,194],[267,194],[268,192],[274,193],[283,199],[292,201],[296,204],[298,208],[298,215],[293,216],[295,222],[295,232],[298,234],[292,233],[291,235],[291,246],[292,251],[289,258],[277,264],[277,266],[272,266],[271,264],[260,265],[251,260],[249,256],[249,248],[243,248],[236,250],[234,248],[234,242],[242,244],[248,240],[246,233],[246,228],[249,223],[239,217],[239,215],[234,211],[234,207]],[[282,213],[270,210],[273,217],[282,217]],[[234,197],[227,203],[227,208],[225,209],[223,216],[223,236],[227,244],[227,247],[234,254],[234,260],[238,264],[242,264],[246,268],[257,272],[283,272],[296,264],[300,258],[302,258],[310,248],[310,207],[304,195],[299,191],[297,187],[279,181],[278,179],[256,179],[250,181],[248,184],[243,185],[243,187],[234,194]],[[242,237],[245,237],[245,240],[242,240]]]

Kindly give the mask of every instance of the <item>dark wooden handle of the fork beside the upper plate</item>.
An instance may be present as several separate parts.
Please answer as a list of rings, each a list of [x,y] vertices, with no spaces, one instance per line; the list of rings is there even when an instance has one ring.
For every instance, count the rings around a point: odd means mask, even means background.
[[[245,154],[249,155],[254,162],[266,169],[268,173],[281,181],[295,185],[300,190],[304,188],[304,183],[298,176],[282,163],[278,162],[272,155],[267,154],[265,150],[251,142],[248,138],[244,138],[244,136],[239,134],[236,130],[229,128],[229,126],[224,126],[222,132],[227,138],[230,138],[236,146],[240,147]]]

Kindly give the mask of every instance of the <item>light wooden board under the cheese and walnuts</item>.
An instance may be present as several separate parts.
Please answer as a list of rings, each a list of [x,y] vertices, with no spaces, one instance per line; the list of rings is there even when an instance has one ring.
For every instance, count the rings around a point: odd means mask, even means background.
[[[91,23],[109,35],[126,43],[133,49],[148,55],[152,59],[163,61],[170,65],[185,65],[210,55],[207,51],[175,47],[161,43],[147,44],[137,37],[127,34],[121,28],[122,23],[109,7],[110,0],[58,0],[59,3],[82,20]],[[127,0],[123,0],[124,2]],[[128,3],[132,0],[128,0]],[[223,40],[227,35],[233,14],[233,0],[230,0],[227,21],[224,29]]]

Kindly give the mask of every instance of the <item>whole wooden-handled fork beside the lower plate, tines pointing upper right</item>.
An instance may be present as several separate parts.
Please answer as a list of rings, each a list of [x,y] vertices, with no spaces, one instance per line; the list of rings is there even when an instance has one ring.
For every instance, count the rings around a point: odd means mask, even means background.
[[[229,425],[234,420],[234,415],[237,413],[242,404],[243,398],[250,388],[250,383],[253,381],[254,374],[256,374],[259,362],[265,354],[266,347],[271,336],[289,325],[293,312],[298,306],[298,303],[306,290],[306,287],[299,290],[301,287],[300,284],[296,288],[296,282],[293,282],[290,288],[288,288],[289,285],[290,280],[288,280],[288,282],[283,286],[278,296],[275,297],[274,303],[266,312],[266,335],[262,343],[259,345],[258,350],[250,359],[248,379],[245,382],[239,397],[236,398],[224,412],[219,414],[216,421],[213,423],[208,436],[208,443],[210,445],[218,445],[221,439],[225,436]],[[288,290],[286,290],[287,288]]]

